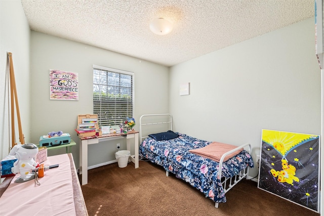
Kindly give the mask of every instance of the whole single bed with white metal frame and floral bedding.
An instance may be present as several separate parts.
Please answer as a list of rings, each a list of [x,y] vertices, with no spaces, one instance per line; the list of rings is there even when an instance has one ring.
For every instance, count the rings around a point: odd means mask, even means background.
[[[152,133],[156,129],[153,127],[161,131]],[[219,162],[213,157],[210,159],[197,154],[201,149],[210,149],[222,143],[173,132],[171,114],[142,115],[140,137],[139,155],[142,158],[163,166],[167,176],[171,172],[204,193],[215,202],[216,208],[219,203],[226,202],[225,193],[240,180],[247,178],[249,167],[254,166],[249,143],[231,148],[218,157]]]

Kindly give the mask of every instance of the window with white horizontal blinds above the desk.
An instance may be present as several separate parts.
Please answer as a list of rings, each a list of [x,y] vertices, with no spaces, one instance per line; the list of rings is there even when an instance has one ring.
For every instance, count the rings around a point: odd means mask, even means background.
[[[134,73],[93,65],[93,113],[99,127],[119,125],[133,112]]]

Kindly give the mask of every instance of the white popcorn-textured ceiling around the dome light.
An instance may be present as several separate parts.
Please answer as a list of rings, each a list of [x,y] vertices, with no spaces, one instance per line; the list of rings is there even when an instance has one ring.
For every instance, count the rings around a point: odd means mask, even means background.
[[[314,0],[21,0],[34,31],[172,66],[314,16]],[[155,35],[154,18],[174,23]]]

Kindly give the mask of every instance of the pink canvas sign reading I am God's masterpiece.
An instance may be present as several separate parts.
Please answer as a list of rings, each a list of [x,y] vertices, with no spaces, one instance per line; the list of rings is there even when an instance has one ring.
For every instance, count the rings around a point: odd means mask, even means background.
[[[50,70],[50,100],[79,100],[78,73]]]

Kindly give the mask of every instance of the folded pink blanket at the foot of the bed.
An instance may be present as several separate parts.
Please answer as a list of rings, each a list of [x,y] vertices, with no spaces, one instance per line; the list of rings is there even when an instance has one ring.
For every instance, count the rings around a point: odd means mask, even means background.
[[[191,149],[191,150],[189,150],[189,152],[203,156],[203,157],[207,157],[209,159],[219,162],[224,153],[226,153],[232,149],[235,149],[235,148],[237,148],[237,146],[233,146],[233,145],[229,145],[229,144],[225,144],[225,143],[212,142],[208,146],[205,146],[200,149]],[[229,155],[226,155],[226,157],[224,158],[224,161],[237,155],[242,150],[243,150],[243,148],[241,148],[237,151],[234,151],[233,153],[231,153]]]

